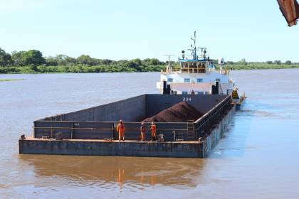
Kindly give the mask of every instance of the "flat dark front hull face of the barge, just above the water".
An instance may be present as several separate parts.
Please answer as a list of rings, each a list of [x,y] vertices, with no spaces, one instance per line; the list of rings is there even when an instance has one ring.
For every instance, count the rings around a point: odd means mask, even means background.
[[[199,158],[199,143],[19,140],[20,154]]]

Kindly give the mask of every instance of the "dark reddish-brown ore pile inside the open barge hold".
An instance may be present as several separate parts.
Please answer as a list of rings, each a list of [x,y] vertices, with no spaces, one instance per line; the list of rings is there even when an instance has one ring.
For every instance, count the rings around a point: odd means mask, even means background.
[[[168,109],[144,119],[142,122],[187,122],[199,119],[203,114],[187,102],[179,102]]]

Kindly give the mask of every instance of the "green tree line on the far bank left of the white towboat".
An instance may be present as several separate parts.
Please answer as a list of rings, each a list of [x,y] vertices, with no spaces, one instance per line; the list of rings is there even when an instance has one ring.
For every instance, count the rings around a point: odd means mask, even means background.
[[[26,72],[142,72],[159,71],[165,63],[157,58],[140,60],[109,60],[80,55],[72,58],[68,55],[43,57],[39,50],[14,51],[6,53],[0,48],[0,73]],[[62,71],[61,71],[62,70]],[[30,71],[27,71],[30,72]]]

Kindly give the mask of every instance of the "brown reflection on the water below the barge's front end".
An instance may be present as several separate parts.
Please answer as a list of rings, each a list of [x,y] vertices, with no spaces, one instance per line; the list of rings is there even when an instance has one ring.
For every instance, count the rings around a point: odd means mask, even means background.
[[[182,185],[194,187],[205,162],[194,158],[135,158],[98,156],[20,155],[33,166],[36,178],[53,177],[96,182],[98,185]]]

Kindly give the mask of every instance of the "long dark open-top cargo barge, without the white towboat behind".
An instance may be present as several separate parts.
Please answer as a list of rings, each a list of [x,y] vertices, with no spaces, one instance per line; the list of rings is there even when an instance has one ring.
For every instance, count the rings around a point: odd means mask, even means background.
[[[196,121],[157,122],[164,141],[150,141],[150,129],[146,141],[139,141],[142,119],[185,100],[204,115]],[[205,158],[234,112],[230,95],[140,95],[36,120],[33,136],[19,139],[19,154]],[[126,127],[126,141],[118,141],[119,119]]]

